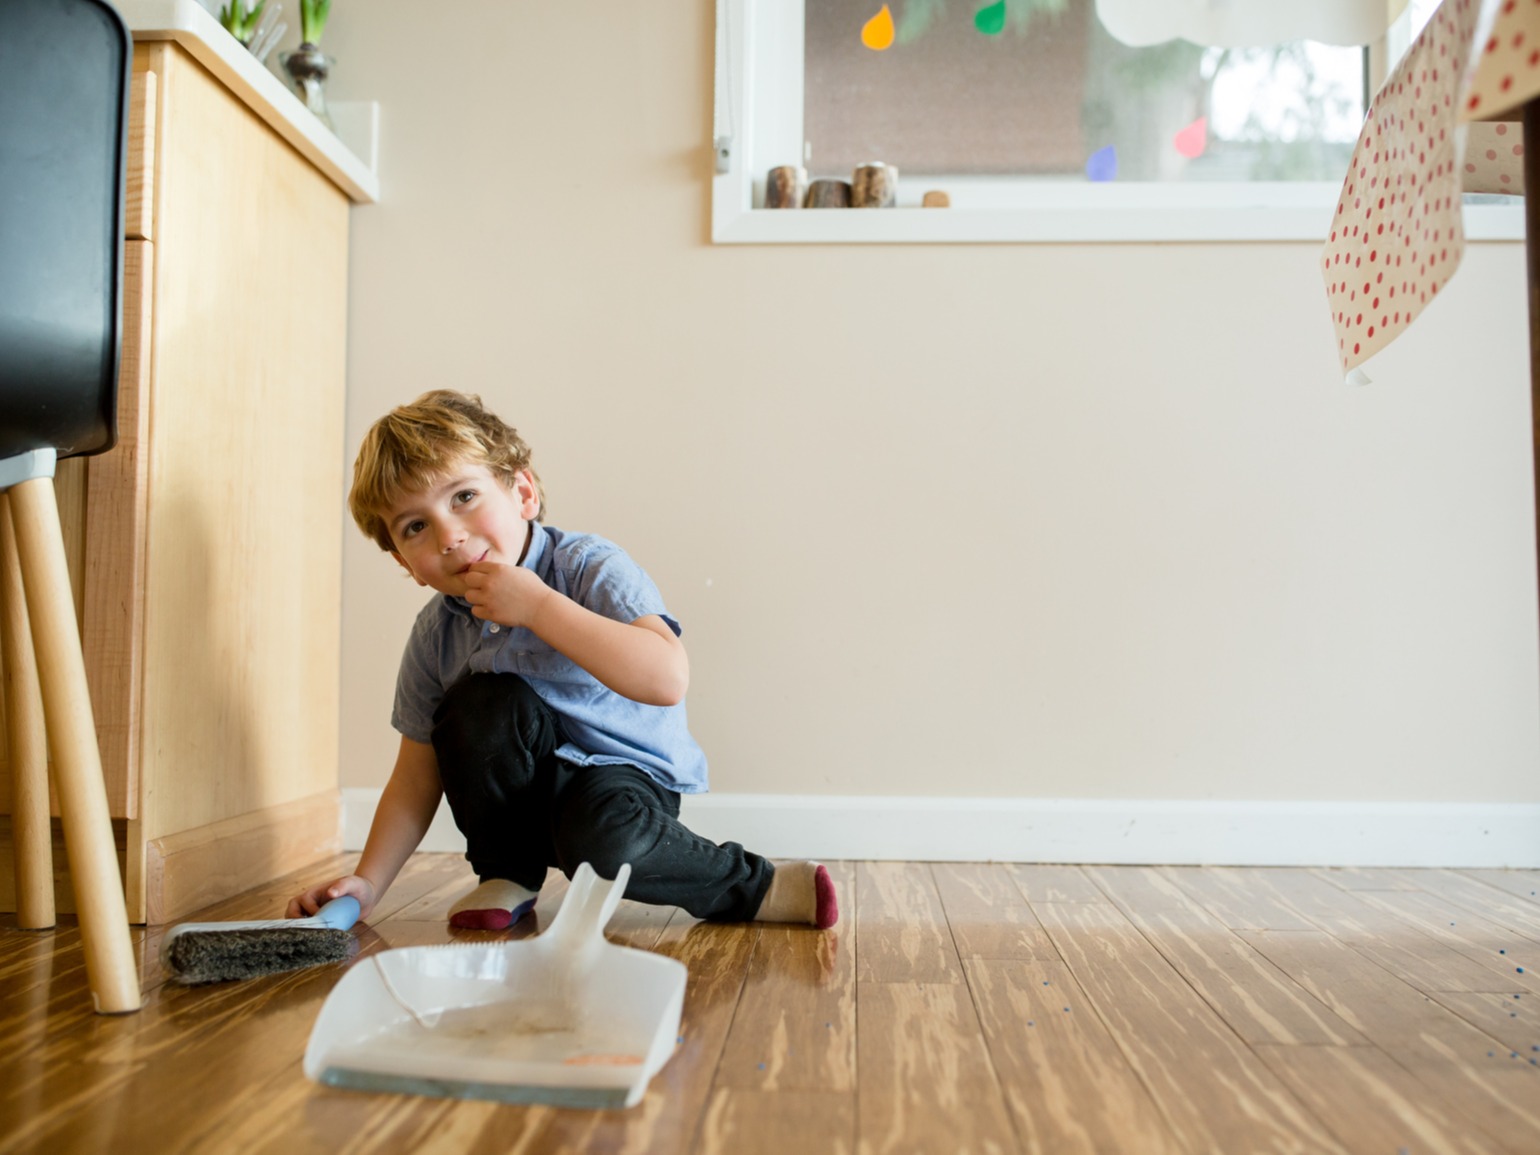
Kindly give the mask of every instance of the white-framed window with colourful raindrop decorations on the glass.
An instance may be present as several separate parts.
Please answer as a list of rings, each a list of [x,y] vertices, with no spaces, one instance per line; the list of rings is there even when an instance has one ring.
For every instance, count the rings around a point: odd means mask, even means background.
[[[1371,48],[1129,48],[1095,0],[721,0],[719,242],[1324,240],[1366,92],[1435,8]],[[898,168],[899,209],[784,213],[772,166]],[[1512,202],[1472,239],[1522,237]]]

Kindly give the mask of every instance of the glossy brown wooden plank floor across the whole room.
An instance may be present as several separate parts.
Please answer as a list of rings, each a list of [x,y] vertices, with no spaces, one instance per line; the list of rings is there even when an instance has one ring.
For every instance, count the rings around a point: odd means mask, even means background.
[[[362,955],[447,941],[470,881],[417,855]],[[145,1009],[103,1018],[72,927],[0,916],[0,1150],[1540,1152],[1540,872],[853,862],[836,882],[824,935],[622,904],[613,939],[690,969],[682,1043],[630,1112],[325,1089],[300,1056],[340,967],[183,987],[140,930]],[[274,916],[293,889],[208,916]]]

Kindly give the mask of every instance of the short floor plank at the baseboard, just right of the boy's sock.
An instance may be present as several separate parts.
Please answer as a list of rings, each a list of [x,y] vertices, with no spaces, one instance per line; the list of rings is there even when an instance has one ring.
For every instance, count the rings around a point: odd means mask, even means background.
[[[962,981],[956,946],[929,867],[858,862],[855,895],[859,981]]]

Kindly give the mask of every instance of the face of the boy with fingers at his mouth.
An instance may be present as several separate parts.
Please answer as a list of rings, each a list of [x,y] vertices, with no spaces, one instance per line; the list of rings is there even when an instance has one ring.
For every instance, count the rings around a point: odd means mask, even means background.
[[[417,585],[464,598],[464,574],[476,562],[521,562],[539,511],[528,471],[510,487],[485,465],[456,465],[427,488],[402,493],[385,525],[396,544],[391,556]]]

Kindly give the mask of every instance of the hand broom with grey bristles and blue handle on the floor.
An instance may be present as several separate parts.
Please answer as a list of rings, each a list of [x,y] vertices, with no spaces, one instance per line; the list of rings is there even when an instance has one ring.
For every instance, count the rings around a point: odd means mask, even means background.
[[[342,962],[354,950],[348,933],[359,899],[334,898],[311,918],[248,922],[182,922],[160,942],[160,962],[179,983],[223,983]]]

